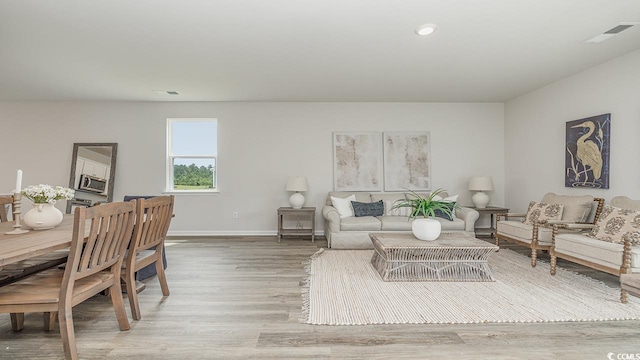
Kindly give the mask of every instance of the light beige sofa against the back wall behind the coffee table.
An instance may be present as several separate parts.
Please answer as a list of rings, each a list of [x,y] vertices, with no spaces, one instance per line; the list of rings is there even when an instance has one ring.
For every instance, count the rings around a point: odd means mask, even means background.
[[[346,198],[355,195],[356,201],[363,203],[384,203],[382,216],[351,216],[341,218],[338,210],[332,206],[331,197]],[[446,193],[440,193],[447,197]],[[391,207],[396,200],[404,199],[405,193],[376,193],[363,191],[329,192],[322,209],[324,217],[324,234],[328,246],[333,249],[372,249],[369,233],[371,232],[410,232],[411,222],[407,216],[391,215]],[[455,210],[453,221],[435,218],[442,224],[442,231],[464,231],[473,233],[479,213],[473,209],[459,207]]]

